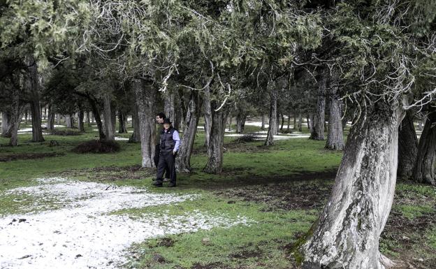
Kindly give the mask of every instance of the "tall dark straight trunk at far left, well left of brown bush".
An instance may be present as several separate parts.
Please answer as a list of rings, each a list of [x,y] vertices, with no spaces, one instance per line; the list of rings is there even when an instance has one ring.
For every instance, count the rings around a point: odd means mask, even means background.
[[[43,142],[43,127],[41,126],[41,106],[39,103],[38,67],[33,55],[27,57],[27,85],[31,93],[30,112],[32,117],[32,142]]]

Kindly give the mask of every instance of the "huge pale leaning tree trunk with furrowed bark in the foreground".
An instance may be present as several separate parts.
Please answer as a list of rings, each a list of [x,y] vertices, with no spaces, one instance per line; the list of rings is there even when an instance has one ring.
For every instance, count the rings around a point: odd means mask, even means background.
[[[393,202],[403,115],[398,103],[379,101],[351,129],[330,200],[301,247],[303,268],[384,268],[379,237]]]

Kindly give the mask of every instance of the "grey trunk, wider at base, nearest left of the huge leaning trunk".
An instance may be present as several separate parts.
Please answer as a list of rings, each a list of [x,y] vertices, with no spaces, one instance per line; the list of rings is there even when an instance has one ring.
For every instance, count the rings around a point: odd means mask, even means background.
[[[333,81],[333,83],[336,83]],[[326,149],[344,150],[344,132],[342,130],[342,108],[337,93],[337,86],[330,85],[328,89],[328,134]]]

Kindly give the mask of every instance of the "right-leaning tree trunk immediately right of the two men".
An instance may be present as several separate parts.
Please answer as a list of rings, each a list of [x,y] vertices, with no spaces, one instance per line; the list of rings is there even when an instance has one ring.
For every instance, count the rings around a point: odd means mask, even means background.
[[[191,92],[188,104],[186,124],[183,128],[183,143],[175,160],[175,167],[183,173],[191,172],[191,153],[194,147],[194,140],[197,132],[198,119],[200,114],[198,93]]]

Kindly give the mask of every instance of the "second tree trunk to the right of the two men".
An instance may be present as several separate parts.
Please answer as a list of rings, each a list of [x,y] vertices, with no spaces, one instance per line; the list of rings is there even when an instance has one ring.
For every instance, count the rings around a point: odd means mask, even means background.
[[[212,101],[213,108],[218,108],[217,101]],[[224,154],[224,128],[226,117],[224,117],[224,108],[218,111],[212,110],[212,128],[210,129],[210,140],[208,147],[208,163],[204,171],[210,174],[219,174],[222,170]]]

